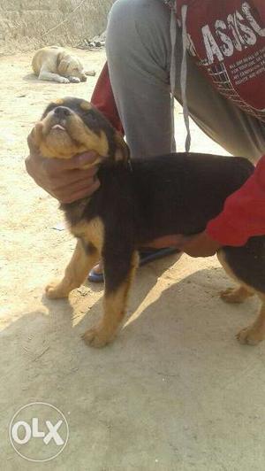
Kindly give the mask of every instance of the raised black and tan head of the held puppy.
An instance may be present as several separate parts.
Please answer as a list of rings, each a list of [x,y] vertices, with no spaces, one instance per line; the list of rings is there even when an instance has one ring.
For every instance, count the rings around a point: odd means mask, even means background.
[[[97,162],[129,158],[122,135],[92,104],[79,98],[50,103],[29,140],[47,158],[72,158],[85,151],[95,151]]]

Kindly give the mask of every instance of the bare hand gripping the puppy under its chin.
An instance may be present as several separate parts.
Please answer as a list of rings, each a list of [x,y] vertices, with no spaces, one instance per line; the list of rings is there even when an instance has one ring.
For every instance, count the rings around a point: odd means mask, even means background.
[[[28,138],[30,155],[26,158],[27,173],[60,203],[72,203],[89,197],[99,188],[96,178],[97,166],[91,165],[98,157],[95,152],[86,152],[69,159],[44,158]]]

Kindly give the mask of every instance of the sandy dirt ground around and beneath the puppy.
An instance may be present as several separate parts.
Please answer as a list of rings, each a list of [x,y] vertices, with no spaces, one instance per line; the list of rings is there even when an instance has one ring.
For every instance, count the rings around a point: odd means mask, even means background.
[[[104,51],[76,53],[99,73]],[[172,256],[141,268],[125,327],[102,350],[80,338],[101,316],[102,286],[87,283],[69,301],[43,296],[75,243],[56,228],[57,201],[27,175],[27,133],[49,100],[89,98],[96,77],[41,82],[31,54],[0,60],[0,468],[263,470],[265,344],[235,339],[258,302],[223,304],[218,292],[232,283],[216,258]],[[178,106],[176,118],[183,150]],[[222,152],[192,132],[193,151]],[[58,407],[69,425],[64,451],[44,463],[21,458],[8,436],[13,414],[32,402]],[[32,440],[37,459],[40,438]]]

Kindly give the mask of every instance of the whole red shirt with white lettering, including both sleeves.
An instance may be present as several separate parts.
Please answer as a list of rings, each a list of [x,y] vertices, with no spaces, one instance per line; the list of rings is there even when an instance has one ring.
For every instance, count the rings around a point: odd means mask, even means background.
[[[182,5],[187,5],[188,49],[208,80],[244,112],[265,121],[265,0],[176,4],[178,18]],[[107,65],[91,101],[123,132]],[[235,246],[252,235],[265,235],[265,156],[243,187],[226,200],[223,212],[208,223],[207,232],[223,245]]]

